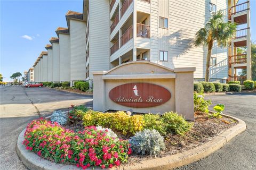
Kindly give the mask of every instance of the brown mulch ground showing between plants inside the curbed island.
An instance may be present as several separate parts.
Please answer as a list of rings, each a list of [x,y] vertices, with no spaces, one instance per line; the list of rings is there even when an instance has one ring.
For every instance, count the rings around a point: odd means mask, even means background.
[[[186,133],[184,136],[178,134],[168,134],[164,137],[165,139],[165,151],[163,151],[159,157],[165,157],[168,155],[177,154],[179,152],[190,150],[195,147],[202,145],[203,143],[213,139],[221,132],[235,126],[236,120],[222,116],[222,118],[209,118],[206,114],[195,115],[195,122],[193,128]],[[77,121],[73,124],[68,124],[65,128],[79,131],[83,130],[83,122]],[[121,132],[113,130],[119,138],[129,139],[129,136],[123,135]],[[154,159],[154,156],[141,156],[131,155],[129,157],[129,165],[139,163],[142,160]]]

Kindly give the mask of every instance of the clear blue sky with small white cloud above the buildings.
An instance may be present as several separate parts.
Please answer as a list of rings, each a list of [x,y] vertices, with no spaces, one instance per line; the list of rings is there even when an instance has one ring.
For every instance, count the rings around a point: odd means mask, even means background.
[[[57,27],[67,27],[68,10],[82,12],[83,1],[1,1],[0,73],[10,81],[14,72],[28,70]],[[242,0],[245,1],[245,0]],[[242,2],[241,1],[241,2]],[[251,37],[256,40],[256,0],[250,1]]]

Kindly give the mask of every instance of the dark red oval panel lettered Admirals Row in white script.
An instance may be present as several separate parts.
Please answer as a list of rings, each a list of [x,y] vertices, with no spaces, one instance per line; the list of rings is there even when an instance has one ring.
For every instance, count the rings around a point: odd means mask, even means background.
[[[169,90],[150,83],[127,83],[109,91],[109,98],[128,107],[159,106],[171,98]]]

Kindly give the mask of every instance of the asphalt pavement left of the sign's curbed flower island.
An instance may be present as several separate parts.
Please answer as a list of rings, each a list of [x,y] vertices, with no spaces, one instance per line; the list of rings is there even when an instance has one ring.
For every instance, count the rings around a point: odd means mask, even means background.
[[[15,146],[19,133],[32,120],[71,104],[92,107],[92,96],[70,94],[47,88],[0,86],[0,169],[27,169]]]

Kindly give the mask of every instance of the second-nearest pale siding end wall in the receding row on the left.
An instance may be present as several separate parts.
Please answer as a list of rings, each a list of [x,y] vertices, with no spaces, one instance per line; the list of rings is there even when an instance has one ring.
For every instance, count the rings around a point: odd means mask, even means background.
[[[70,20],[70,80],[85,80],[86,22]]]

